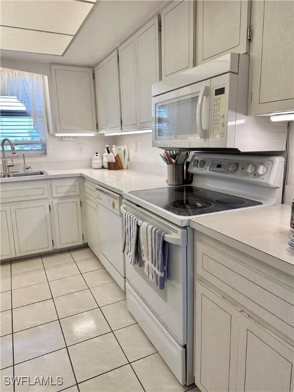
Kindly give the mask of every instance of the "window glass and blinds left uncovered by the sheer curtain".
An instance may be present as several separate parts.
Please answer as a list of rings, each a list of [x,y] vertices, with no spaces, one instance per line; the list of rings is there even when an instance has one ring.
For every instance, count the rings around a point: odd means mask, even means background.
[[[0,96],[0,139],[8,137],[15,150],[44,154],[46,145],[34,127],[32,116],[16,96]],[[5,144],[5,150],[10,145]]]

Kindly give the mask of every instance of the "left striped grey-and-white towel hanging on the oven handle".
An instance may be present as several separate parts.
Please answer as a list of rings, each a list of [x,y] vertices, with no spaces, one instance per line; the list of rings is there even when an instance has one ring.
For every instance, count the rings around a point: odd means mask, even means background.
[[[131,264],[142,266],[141,250],[138,237],[138,218],[129,211],[124,212],[124,239],[122,240],[122,252],[127,256]]]

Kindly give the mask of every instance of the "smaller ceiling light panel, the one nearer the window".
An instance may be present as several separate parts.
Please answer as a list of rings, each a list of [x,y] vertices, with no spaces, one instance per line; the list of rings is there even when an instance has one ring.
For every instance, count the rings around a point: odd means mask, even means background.
[[[2,50],[59,55],[65,51],[71,35],[43,33],[40,31],[0,27]]]

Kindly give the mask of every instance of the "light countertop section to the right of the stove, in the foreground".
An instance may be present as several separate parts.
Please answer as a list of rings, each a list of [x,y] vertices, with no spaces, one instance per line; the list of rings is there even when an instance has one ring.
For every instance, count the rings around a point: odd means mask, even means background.
[[[294,252],[287,249],[294,234],[290,231],[290,211],[288,204],[235,210],[191,219],[190,226],[293,274]]]

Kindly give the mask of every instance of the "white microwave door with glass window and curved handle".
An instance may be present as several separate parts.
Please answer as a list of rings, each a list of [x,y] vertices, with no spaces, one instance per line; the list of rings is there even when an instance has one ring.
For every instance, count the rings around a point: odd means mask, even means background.
[[[154,147],[208,147],[210,85],[209,79],[152,98]]]

